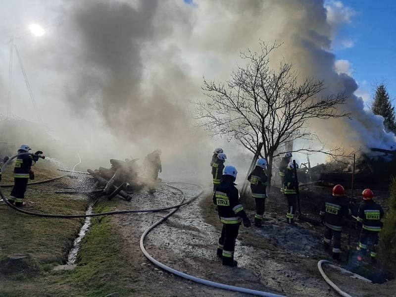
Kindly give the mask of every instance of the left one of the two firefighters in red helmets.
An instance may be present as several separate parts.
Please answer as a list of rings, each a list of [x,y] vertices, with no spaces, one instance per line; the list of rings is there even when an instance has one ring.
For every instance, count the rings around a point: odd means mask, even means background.
[[[323,246],[328,249],[333,239],[333,259],[335,260],[339,260],[341,255],[341,234],[344,217],[350,214],[344,187],[341,185],[334,186],[333,195],[324,201],[319,215],[325,225]]]

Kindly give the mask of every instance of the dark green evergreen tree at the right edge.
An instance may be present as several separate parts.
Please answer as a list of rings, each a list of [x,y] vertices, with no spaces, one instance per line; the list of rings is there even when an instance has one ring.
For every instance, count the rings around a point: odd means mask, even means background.
[[[392,106],[389,94],[384,85],[377,87],[371,109],[374,114],[384,117],[384,126],[388,132],[396,134],[395,107]]]

